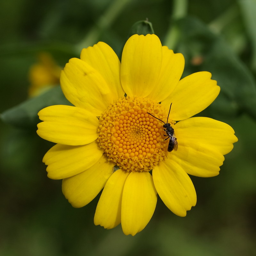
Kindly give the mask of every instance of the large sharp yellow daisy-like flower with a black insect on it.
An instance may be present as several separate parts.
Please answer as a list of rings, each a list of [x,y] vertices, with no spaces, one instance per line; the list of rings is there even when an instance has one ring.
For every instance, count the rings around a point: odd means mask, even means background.
[[[234,130],[191,116],[209,106],[220,87],[209,72],[180,80],[183,69],[183,55],[162,46],[156,35],[131,36],[122,63],[99,42],[83,49],[81,59],[69,60],[61,73],[62,91],[74,106],[38,113],[38,135],[57,143],[43,159],[48,177],[63,179],[68,201],[83,207],[104,188],[95,225],[109,229],[121,223],[124,234],[134,236],[151,219],[157,194],[173,213],[186,216],[196,205],[188,174],[219,174],[223,155],[237,141]],[[178,149],[168,152],[163,122],[171,103],[168,123]]]

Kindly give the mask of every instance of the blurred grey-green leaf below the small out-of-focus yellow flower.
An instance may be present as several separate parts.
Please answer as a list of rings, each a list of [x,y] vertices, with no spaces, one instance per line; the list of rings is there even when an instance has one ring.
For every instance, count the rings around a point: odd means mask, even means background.
[[[39,110],[52,105],[72,105],[63,95],[60,86],[4,111],[1,118],[5,123],[18,128],[30,128],[40,122],[37,116]]]

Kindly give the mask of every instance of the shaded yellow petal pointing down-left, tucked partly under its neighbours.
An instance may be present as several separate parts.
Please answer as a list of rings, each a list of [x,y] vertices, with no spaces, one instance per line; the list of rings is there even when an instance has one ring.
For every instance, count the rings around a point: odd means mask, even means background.
[[[83,207],[99,194],[112,172],[113,163],[103,155],[86,171],[63,179],[62,192],[73,207]]]

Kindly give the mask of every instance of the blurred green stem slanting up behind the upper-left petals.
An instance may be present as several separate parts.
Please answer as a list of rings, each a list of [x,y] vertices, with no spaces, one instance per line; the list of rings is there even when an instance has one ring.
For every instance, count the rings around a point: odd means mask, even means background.
[[[113,0],[98,22],[89,30],[84,39],[76,45],[77,51],[80,52],[82,48],[86,48],[97,43],[101,31],[109,28],[120,12],[123,11],[126,4],[131,1],[133,0]]]

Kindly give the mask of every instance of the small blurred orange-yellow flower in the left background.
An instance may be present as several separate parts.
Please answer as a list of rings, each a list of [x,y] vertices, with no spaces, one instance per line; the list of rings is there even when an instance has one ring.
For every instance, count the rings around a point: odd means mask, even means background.
[[[29,97],[34,97],[60,83],[61,68],[49,53],[42,52],[29,70]]]

